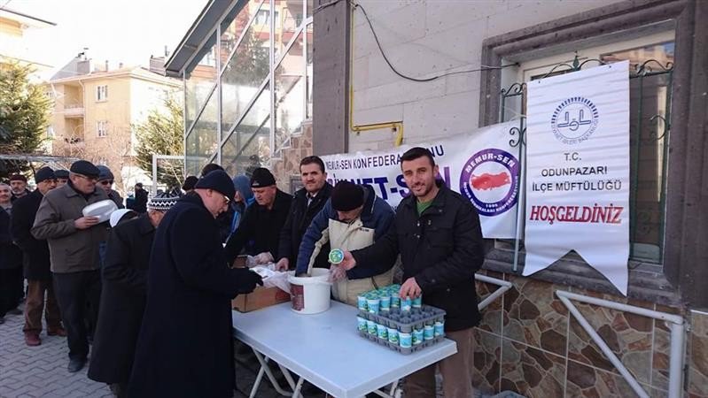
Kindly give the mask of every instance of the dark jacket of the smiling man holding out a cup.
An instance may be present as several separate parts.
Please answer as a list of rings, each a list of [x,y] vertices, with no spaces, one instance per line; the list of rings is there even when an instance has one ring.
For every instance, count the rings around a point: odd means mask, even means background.
[[[416,278],[423,302],[445,310],[445,329],[454,332],[479,323],[474,273],[484,262],[484,241],[470,201],[443,184],[439,187],[420,217],[416,197],[403,199],[385,237],[352,254],[359,263],[401,253],[403,280]]]

